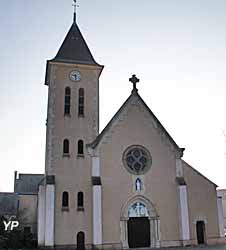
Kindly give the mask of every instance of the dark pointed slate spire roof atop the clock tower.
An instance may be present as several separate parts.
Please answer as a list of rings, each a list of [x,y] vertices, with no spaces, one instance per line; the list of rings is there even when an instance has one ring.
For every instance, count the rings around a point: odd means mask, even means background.
[[[57,55],[51,61],[100,66],[94,60],[76,22],[72,24]]]

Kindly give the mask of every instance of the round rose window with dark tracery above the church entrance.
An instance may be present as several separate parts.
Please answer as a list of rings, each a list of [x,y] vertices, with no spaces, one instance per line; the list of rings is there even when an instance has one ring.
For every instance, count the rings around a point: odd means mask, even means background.
[[[140,145],[128,147],[123,153],[123,164],[131,174],[144,174],[151,167],[151,154]]]

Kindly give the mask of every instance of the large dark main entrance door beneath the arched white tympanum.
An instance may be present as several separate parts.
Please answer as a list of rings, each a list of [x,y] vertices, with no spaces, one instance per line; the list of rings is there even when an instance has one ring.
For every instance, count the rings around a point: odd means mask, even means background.
[[[127,225],[130,248],[150,247],[150,221],[147,217],[131,217]]]

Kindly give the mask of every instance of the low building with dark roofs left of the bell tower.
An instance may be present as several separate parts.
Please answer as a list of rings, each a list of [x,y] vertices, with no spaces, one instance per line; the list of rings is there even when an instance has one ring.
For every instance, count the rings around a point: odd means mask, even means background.
[[[17,174],[14,177],[14,192],[0,193],[0,217],[18,220],[19,230],[32,233],[37,239],[38,186],[43,174]]]

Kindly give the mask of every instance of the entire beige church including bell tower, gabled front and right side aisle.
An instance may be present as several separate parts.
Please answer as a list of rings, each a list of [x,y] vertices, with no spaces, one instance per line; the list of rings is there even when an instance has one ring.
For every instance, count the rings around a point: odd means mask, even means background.
[[[45,178],[38,192],[38,244],[121,249],[219,244],[216,185],[180,148],[138,93],[99,133],[98,64],[74,19],[47,61]]]

